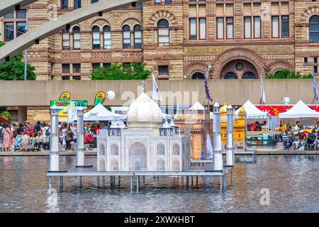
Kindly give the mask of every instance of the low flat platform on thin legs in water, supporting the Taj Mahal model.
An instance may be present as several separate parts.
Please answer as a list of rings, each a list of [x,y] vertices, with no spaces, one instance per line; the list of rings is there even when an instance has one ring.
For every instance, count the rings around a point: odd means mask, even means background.
[[[220,192],[226,190],[227,177],[230,174],[230,184],[233,184],[233,167],[224,167],[223,171],[213,171],[211,166],[206,167],[191,167],[186,171],[117,171],[117,172],[101,172],[97,171],[96,167],[77,167],[60,172],[47,172],[49,177],[49,189],[51,188],[52,177],[59,177],[59,189],[63,190],[63,177],[79,177],[79,185],[82,187],[82,177],[96,177],[96,187],[100,188],[100,177],[102,184],[105,186],[105,177],[110,177],[110,182],[115,182],[118,177],[119,182],[121,177],[130,177],[130,189],[133,191],[133,178],[136,178],[136,192],[140,188],[140,177],[142,177],[142,187],[145,187],[145,177],[181,177],[181,187],[184,187],[184,177],[186,177],[186,187],[189,187],[189,177],[219,177]]]

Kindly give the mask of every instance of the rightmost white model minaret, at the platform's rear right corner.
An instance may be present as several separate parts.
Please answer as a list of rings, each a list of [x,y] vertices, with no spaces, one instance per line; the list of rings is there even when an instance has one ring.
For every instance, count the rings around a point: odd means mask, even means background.
[[[233,106],[227,107],[227,148],[226,148],[226,165],[233,166],[234,162],[234,109]]]

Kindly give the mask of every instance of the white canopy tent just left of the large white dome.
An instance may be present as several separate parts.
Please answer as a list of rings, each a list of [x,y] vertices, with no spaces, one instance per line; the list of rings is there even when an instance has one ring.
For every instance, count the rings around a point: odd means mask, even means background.
[[[102,104],[97,104],[91,111],[84,114],[84,121],[114,121],[123,118],[122,114],[114,114],[108,111]]]

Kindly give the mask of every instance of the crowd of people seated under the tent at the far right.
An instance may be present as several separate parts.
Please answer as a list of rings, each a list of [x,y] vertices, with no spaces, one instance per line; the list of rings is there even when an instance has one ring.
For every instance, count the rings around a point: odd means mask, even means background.
[[[311,130],[311,133],[301,131],[301,123],[297,121],[294,126],[287,126],[282,135],[285,150],[318,150],[319,122]]]

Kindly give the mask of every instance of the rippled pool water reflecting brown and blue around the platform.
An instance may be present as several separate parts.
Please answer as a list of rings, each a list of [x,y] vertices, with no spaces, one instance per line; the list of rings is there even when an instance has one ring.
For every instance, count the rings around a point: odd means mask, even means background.
[[[0,157],[0,212],[319,212],[319,160],[310,156],[259,156],[256,163],[236,162],[234,184],[219,193],[219,179],[199,178],[181,189],[180,178],[146,178],[145,190],[121,187],[96,189],[96,178],[65,178],[57,196],[47,192],[48,157]],[[95,165],[96,157],[86,157]],[[60,167],[74,167],[75,157],[60,157]],[[58,187],[53,179],[52,187]],[[118,181],[116,180],[116,184]],[[269,189],[270,205],[260,204]]]

